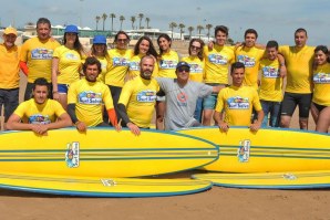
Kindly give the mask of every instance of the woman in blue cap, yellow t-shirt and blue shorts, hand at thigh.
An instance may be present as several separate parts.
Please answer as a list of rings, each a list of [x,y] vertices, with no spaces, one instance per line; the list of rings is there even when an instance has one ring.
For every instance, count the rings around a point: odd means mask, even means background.
[[[80,80],[82,54],[84,49],[79,41],[76,25],[66,25],[64,44],[56,48],[52,60],[53,98],[64,109],[68,106],[68,88],[71,83]]]

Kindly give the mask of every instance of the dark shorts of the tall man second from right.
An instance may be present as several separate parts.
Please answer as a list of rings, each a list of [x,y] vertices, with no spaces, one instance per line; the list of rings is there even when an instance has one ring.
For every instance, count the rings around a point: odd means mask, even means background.
[[[299,117],[308,118],[312,94],[285,93],[281,106],[281,115],[292,116],[299,106]]]

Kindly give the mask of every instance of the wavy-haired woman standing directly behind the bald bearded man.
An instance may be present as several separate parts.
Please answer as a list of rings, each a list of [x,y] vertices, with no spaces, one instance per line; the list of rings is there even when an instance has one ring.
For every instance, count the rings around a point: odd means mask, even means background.
[[[128,69],[130,78],[133,78],[140,75],[140,61],[144,55],[152,55],[155,59],[158,57],[158,53],[155,50],[153,41],[146,35],[141,36],[134,46],[133,56],[130,61],[130,69]],[[155,66],[153,75],[156,74],[156,71],[157,69]]]

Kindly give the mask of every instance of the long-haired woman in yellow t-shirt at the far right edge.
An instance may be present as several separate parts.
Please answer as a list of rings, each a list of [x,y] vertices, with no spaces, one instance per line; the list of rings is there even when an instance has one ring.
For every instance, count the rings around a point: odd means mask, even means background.
[[[330,127],[330,59],[328,48],[318,45],[314,49],[313,95],[311,115],[317,132],[328,133]]]

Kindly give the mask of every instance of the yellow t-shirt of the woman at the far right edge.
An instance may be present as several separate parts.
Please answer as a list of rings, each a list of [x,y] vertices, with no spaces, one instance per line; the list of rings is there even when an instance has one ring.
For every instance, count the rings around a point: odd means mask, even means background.
[[[314,91],[312,102],[330,106],[330,63],[319,65],[313,73]]]

